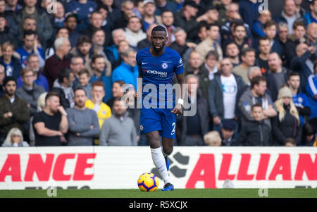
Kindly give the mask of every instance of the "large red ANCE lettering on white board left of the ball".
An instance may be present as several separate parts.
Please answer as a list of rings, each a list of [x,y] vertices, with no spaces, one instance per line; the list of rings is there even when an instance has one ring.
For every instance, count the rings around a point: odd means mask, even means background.
[[[56,160],[54,160],[56,158]],[[0,167],[0,182],[5,182],[7,176],[11,176],[12,182],[49,181],[89,181],[94,174],[85,174],[86,169],[91,169],[94,163],[89,159],[96,158],[96,154],[28,154],[25,173],[21,173],[20,154],[7,154],[4,165]],[[75,160],[75,168],[72,174],[64,174],[66,161]],[[24,174],[24,175],[23,175]]]

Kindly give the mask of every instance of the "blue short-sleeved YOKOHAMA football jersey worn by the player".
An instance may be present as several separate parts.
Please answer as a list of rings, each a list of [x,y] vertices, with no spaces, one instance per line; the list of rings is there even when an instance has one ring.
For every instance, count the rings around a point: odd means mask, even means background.
[[[150,96],[151,105],[159,106],[160,101],[173,101],[172,79],[174,73],[184,73],[184,67],[180,54],[173,49],[165,47],[161,56],[152,56],[149,49],[150,47],[137,52],[137,66],[143,75],[142,96]]]

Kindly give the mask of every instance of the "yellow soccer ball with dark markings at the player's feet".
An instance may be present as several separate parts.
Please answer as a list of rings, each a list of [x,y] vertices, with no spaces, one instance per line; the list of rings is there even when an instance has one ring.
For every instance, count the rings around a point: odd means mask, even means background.
[[[154,192],[159,187],[159,177],[154,173],[143,173],[137,180],[137,186],[142,192]]]

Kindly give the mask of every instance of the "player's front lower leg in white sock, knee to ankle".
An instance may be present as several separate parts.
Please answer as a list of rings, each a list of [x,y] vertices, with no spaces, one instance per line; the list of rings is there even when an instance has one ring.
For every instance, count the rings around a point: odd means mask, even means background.
[[[164,184],[166,185],[167,183],[170,183],[170,180],[168,176],[168,170],[166,169],[166,161],[161,150],[159,131],[148,132],[147,139],[149,139],[153,163],[157,170],[159,170]]]

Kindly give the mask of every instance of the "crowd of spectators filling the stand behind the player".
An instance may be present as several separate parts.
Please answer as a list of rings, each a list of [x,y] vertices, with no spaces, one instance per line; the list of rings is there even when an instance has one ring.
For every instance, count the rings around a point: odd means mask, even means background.
[[[148,145],[121,97],[156,25],[197,105],[175,145],[317,146],[317,0],[0,0],[0,145]]]

